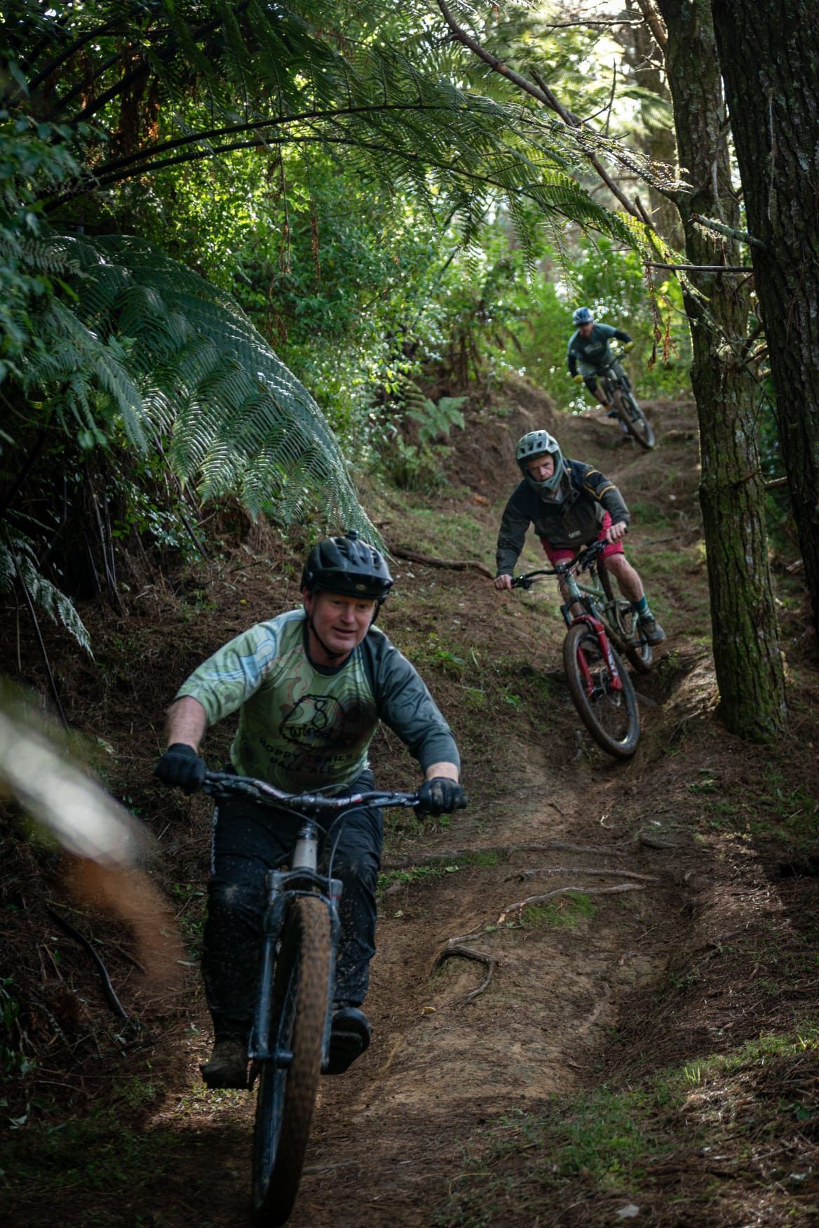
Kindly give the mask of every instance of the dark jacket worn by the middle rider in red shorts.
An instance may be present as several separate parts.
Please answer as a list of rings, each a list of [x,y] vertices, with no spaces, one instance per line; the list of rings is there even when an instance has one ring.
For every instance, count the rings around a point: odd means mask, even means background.
[[[623,495],[599,469],[582,460],[565,464],[559,500],[544,499],[526,479],[513,490],[497,534],[499,576],[513,573],[529,524],[553,549],[573,550],[594,542],[605,512],[613,524],[631,519]]]

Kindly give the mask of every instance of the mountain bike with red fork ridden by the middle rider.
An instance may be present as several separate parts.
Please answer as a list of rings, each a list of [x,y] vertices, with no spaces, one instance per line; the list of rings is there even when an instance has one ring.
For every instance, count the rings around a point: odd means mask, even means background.
[[[640,713],[618,650],[642,673],[651,669],[653,652],[631,603],[614,593],[610,576],[599,566],[605,545],[593,542],[567,562],[516,576],[512,587],[530,588],[540,576],[562,582],[567,600],[560,613],[569,629],[564,668],[572,702],[598,745],[627,759],[640,740]],[[588,583],[578,582],[582,571],[589,572]]]

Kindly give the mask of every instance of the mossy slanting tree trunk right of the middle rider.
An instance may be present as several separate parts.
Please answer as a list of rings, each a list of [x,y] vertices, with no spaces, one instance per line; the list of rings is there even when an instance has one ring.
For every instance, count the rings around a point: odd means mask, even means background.
[[[658,0],[668,43],[666,71],[677,145],[691,194],[678,194],[693,264],[742,264],[736,243],[691,214],[739,225],[726,141],[722,82],[708,0]],[[785,683],[767,562],[764,489],[755,436],[758,388],[743,367],[748,279],[690,274],[685,293],[700,420],[700,506],[707,550],[720,715],[740,737],[764,740],[782,728]]]

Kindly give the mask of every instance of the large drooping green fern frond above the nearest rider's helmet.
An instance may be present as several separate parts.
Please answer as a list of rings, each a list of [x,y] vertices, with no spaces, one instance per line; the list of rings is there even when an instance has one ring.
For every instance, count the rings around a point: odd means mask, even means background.
[[[203,499],[247,492],[253,515],[285,523],[323,506],[325,523],[373,533],[318,405],[230,295],[130,237],[52,242],[76,269],[72,297],[42,318],[50,345],[29,384],[64,381],[86,427],[107,398],[134,446],[166,437]]]

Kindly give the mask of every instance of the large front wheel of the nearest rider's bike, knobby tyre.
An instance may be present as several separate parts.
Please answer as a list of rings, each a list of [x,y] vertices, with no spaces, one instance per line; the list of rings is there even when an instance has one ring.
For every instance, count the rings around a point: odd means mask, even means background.
[[[330,980],[330,919],[302,895],[285,917],[274,974],[271,1057],[260,1063],[253,1132],[253,1211],[258,1223],[290,1218],[301,1181],[322,1073]]]

